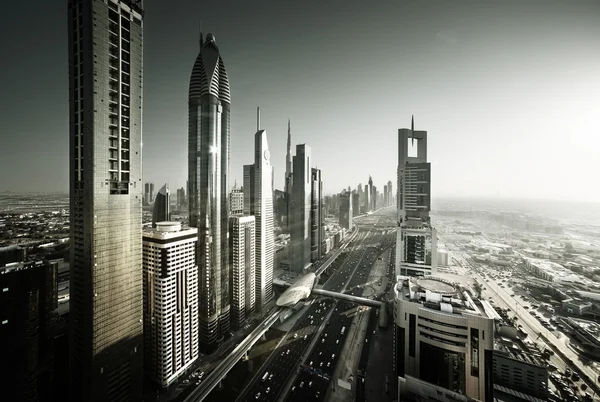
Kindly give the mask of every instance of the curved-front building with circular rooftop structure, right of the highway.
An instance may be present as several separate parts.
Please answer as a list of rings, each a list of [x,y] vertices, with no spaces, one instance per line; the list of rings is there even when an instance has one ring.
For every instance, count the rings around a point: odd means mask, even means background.
[[[399,383],[412,376],[488,400],[485,352],[494,349],[494,309],[437,278],[399,279],[394,288]],[[400,386],[398,400],[404,400],[403,391]]]

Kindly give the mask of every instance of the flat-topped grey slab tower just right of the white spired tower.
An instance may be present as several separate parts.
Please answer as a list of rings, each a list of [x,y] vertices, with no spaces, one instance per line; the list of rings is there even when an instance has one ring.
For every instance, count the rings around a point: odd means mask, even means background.
[[[311,152],[306,144],[296,145],[292,187],[290,251],[292,270],[303,272],[310,265]]]

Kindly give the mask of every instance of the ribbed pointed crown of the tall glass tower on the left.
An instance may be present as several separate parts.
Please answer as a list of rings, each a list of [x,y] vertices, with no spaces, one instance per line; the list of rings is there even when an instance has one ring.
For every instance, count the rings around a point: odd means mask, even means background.
[[[200,99],[204,95],[213,95],[221,102],[231,104],[229,78],[213,34],[206,35],[190,79],[189,98]]]

